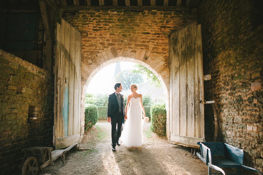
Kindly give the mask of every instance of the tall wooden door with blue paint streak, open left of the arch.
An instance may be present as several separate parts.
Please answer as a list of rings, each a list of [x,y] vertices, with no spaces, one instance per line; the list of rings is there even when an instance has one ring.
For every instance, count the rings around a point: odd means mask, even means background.
[[[80,32],[61,18],[56,36],[55,149],[80,140],[81,41]]]

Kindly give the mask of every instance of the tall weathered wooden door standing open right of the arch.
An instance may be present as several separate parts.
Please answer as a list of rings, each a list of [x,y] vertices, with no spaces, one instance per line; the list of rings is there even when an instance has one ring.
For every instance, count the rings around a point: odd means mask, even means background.
[[[188,24],[171,35],[170,143],[198,147],[204,141],[201,24]]]

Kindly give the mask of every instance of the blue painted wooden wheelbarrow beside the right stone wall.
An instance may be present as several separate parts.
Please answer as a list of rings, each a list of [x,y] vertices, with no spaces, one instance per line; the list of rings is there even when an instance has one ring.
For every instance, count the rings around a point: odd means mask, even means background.
[[[200,145],[200,153],[196,153],[207,166],[210,174],[236,174],[240,175],[241,168],[263,174],[255,168],[243,165],[244,151],[223,142],[197,142]],[[222,167],[237,168],[236,173],[225,173]],[[221,173],[212,173],[214,170]]]

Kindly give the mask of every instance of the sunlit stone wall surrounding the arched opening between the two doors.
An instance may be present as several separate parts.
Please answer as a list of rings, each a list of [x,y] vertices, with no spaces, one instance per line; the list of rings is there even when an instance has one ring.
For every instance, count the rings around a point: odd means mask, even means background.
[[[145,66],[157,76],[169,107],[169,37],[195,22],[196,13],[80,10],[76,14],[63,14],[63,18],[82,33],[81,104],[89,82],[100,69],[111,63],[129,61]],[[167,118],[169,121],[169,114]],[[81,121],[84,126],[84,106]]]

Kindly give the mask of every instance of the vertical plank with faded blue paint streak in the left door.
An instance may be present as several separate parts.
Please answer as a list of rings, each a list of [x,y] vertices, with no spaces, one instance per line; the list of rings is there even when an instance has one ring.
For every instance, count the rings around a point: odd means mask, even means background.
[[[64,19],[63,19],[64,20]],[[63,136],[68,135],[69,120],[69,60],[70,60],[70,24],[65,22],[65,62],[64,62],[64,99],[63,99]]]

